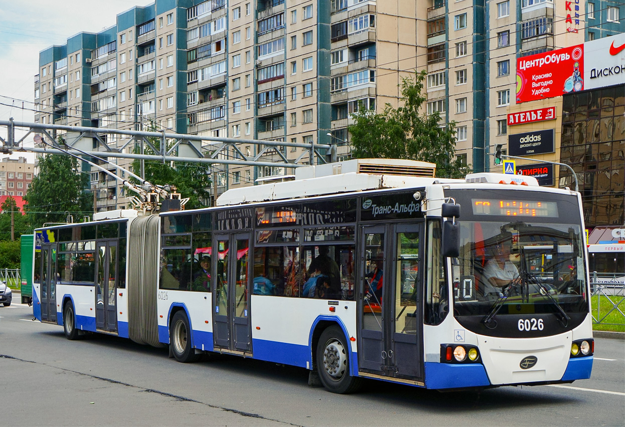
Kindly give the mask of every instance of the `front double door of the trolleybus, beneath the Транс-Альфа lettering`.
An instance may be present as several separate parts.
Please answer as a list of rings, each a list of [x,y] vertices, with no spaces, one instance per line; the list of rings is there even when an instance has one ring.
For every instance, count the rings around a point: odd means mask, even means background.
[[[359,370],[419,380],[421,224],[362,227]]]

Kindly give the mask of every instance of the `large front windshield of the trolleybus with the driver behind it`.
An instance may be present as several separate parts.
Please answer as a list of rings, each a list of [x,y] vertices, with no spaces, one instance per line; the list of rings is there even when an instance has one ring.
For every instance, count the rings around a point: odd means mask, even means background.
[[[587,312],[583,254],[579,224],[463,221],[452,259],[454,313]]]

